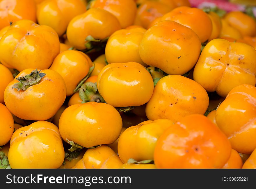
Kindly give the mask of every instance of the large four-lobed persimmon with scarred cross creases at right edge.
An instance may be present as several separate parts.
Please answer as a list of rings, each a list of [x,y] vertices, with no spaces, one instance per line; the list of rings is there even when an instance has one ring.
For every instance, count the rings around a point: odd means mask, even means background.
[[[226,97],[236,86],[256,83],[256,50],[244,43],[214,39],[203,49],[193,78],[208,92]]]

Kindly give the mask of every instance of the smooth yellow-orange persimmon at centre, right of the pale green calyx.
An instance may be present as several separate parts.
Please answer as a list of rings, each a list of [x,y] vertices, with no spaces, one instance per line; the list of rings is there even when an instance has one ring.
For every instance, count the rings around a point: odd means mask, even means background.
[[[129,107],[148,102],[154,83],[150,73],[139,63],[112,63],[100,71],[97,88],[108,104]]]

